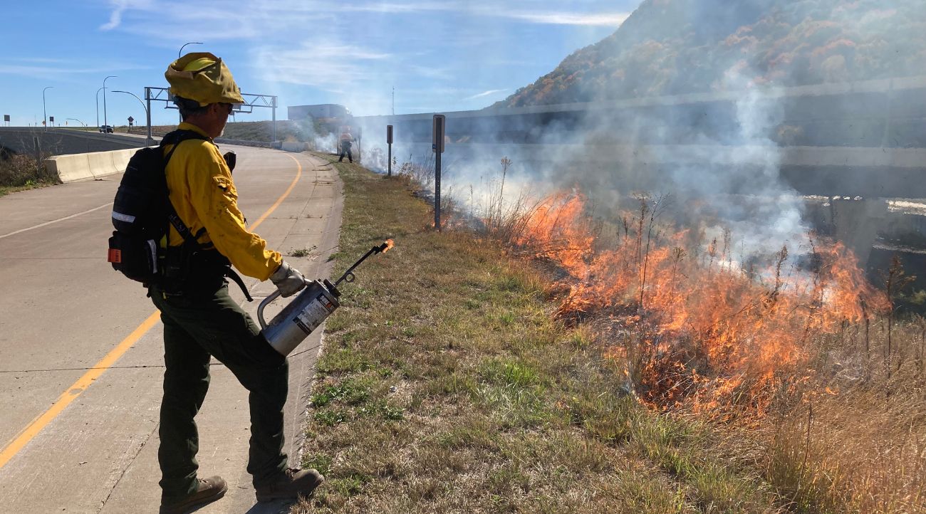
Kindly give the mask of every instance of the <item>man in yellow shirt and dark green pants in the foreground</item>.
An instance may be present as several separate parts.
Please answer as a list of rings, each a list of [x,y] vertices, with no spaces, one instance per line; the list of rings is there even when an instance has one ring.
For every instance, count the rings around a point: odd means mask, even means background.
[[[279,252],[244,227],[232,171],[212,138],[225,128],[232,107],[244,103],[232,73],[222,60],[193,53],[165,72],[170,94],[180,109],[181,131],[206,139],[166,145],[170,201],[189,232],[206,250],[181,258],[176,283],[149,286],[148,294],[164,323],[164,396],[160,410],[162,514],[188,512],[218,500],[228,489],[218,476],[198,478],[198,436],[194,417],[209,385],[209,359],[216,357],[249,392],[251,439],[247,471],[257,501],[309,495],[324,481],[317,470],[289,468],[283,453],[283,406],[289,369],[259,333],[257,325],[228,291],[229,264],[245,275],[270,280],[282,296],[305,286],[298,270]],[[183,238],[170,227],[166,254],[181,254]],[[173,252],[173,254],[171,254]]]

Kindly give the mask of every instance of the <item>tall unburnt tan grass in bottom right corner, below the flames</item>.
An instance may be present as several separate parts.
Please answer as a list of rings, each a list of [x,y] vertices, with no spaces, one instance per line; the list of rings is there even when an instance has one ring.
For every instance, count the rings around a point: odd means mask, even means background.
[[[757,466],[796,512],[926,512],[921,321],[895,325],[890,358],[887,325],[869,351],[857,327],[816,347],[812,379],[758,427]]]

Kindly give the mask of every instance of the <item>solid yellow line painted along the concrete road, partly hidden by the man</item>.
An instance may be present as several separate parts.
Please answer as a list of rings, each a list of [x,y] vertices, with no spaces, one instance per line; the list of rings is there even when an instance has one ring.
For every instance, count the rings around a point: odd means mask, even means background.
[[[302,177],[302,165],[299,163],[299,161],[296,160],[296,158],[293,156],[286,157],[293,159],[297,167],[293,182],[290,183],[290,186],[286,189],[286,192],[277,199],[276,203],[270,206],[270,208],[267,209],[267,211],[265,211],[264,214],[262,214],[260,218],[257,219],[257,221],[248,227],[248,230],[253,231],[256,229],[257,225],[259,225],[264,219],[267,219],[269,215],[273,213],[274,210],[276,210],[277,207],[280,207],[280,204],[282,204],[283,200],[293,192],[296,182],[299,182],[299,179]],[[39,414],[34,420],[31,421],[31,423],[29,423],[26,428],[22,429],[22,431],[16,434],[16,436],[13,437],[9,444],[7,444],[3,449],[0,449],[0,468],[3,468],[6,463],[9,462],[10,458],[13,458],[16,454],[18,454],[19,450],[21,450],[23,446],[28,445],[32,438],[42,432],[42,429],[44,429],[48,423],[54,420],[57,415],[65,409],[65,407],[68,407],[70,403],[73,402],[78,396],[80,396],[81,393],[87,389],[87,387],[90,387],[90,384],[98,379],[100,375],[106,371],[106,369],[115,364],[116,361],[119,360],[119,357],[122,357],[122,355],[129,351],[129,348],[135,345],[135,343],[137,343],[146,332],[151,330],[151,327],[155,326],[157,320],[159,319],[159,315],[160,312],[155,311],[151,316],[148,316],[148,319],[144,320],[141,325],[139,325],[135,330],[131,331],[128,337],[123,339],[119,345],[116,345],[115,348],[110,350],[109,353],[106,354],[106,357],[103,357],[99,362],[94,364],[93,368],[84,373],[81,378],[77,379],[77,382],[74,382],[64,393],[58,396],[58,398],[55,400],[55,403],[53,403],[51,407],[48,407],[48,409],[45,410],[42,414]]]

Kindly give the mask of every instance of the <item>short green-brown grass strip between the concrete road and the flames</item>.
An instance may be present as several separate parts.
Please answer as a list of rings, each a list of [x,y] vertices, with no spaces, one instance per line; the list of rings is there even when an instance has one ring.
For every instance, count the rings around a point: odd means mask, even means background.
[[[594,335],[555,320],[541,272],[435,232],[407,177],[335,166],[336,270],[395,248],[326,325],[303,465],[328,482],[293,512],[787,511],[726,436],[641,406]]]

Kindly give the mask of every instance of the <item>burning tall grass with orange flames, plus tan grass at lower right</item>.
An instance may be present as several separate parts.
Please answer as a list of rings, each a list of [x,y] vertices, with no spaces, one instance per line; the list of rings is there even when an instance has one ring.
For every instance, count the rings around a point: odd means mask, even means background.
[[[808,234],[800,260],[782,247],[744,265],[730,232],[659,223],[664,200],[638,198],[603,243],[581,195],[552,196],[500,240],[563,272],[557,318],[593,327],[644,404],[745,435],[788,508],[923,511],[922,320],[898,331],[841,244]],[[885,278],[890,293],[903,271]]]

